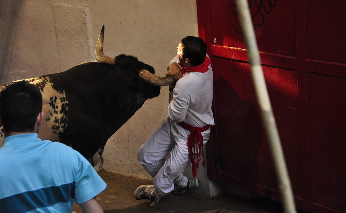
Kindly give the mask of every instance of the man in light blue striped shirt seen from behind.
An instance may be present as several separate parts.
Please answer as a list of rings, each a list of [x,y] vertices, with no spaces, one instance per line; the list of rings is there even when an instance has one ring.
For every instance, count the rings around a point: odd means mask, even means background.
[[[0,212],[103,213],[95,196],[106,183],[77,151],[37,136],[44,119],[42,95],[20,81],[0,93]]]

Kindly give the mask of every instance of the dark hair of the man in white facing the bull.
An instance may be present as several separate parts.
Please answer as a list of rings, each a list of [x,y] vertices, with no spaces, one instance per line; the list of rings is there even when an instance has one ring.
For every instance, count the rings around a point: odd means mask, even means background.
[[[192,66],[198,66],[204,62],[207,54],[207,45],[203,39],[195,36],[186,36],[181,39],[183,44],[183,57],[189,58]]]

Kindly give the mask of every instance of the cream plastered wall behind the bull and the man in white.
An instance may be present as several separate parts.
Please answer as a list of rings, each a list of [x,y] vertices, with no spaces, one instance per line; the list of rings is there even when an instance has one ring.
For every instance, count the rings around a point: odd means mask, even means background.
[[[181,38],[198,36],[193,0],[2,0],[0,12],[1,84],[94,61],[102,25],[106,55],[137,56],[161,76]],[[167,116],[167,104],[163,87],[108,140],[101,166],[150,179],[137,150]]]

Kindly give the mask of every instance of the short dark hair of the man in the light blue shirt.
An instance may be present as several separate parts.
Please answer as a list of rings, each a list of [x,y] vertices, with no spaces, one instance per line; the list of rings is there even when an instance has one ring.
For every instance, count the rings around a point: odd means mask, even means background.
[[[35,129],[42,111],[42,95],[25,81],[10,84],[0,93],[0,114],[7,132],[28,132]]]

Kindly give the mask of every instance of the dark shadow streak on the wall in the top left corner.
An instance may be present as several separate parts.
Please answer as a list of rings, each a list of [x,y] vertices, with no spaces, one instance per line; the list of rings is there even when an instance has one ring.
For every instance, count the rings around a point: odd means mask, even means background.
[[[6,63],[11,61],[23,1],[3,0],[0,4],[0,79],[6,73]]]

